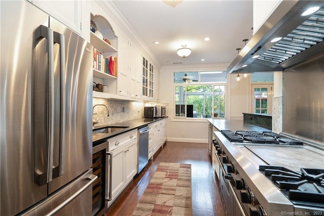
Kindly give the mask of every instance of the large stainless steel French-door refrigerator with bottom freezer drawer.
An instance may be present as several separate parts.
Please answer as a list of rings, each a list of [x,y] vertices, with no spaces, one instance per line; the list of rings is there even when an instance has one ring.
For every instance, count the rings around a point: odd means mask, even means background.
[[[0,214],[91,215],[93,47],[27,1],[0,4]]]

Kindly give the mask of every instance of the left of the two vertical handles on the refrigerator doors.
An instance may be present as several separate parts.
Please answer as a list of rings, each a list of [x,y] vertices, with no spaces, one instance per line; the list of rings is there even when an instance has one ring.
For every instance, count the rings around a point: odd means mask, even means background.
[[[43,38],[48,40],[48,65],[49,65],[49,83],[48,83],[48,108],[46,111],[46,121],[47,121],[47,128],[46,128],[46,146],[44,150],[44,169],[46,173],[42,172],[38,169],[37,159],[34,156],[34,181],[39,185],[45,185],[52,181],[53,177],[53,145],[54,145],[54,63],[53,63],[53,30],[49,27],[44,25],[40,25],[35,30],[35,46],[37,46],[38,42]],[[35,71],[34,71],[35,73]],[[34,98],[35,103],[35,98]],[[34,104],[35,106],[39,104]],[[44,104],[46,105],[46,104]],[[36,114],[33,114],[36,115]],[[36,124],[35,122],[33,124]],[[35,125],[33,125],[35,129]],[[35,142],[35,140],[33,140]],[[35,148],[40,148],[40,145],[43,143],[35,143]],[[42,157],[42,156],[40,156]]]

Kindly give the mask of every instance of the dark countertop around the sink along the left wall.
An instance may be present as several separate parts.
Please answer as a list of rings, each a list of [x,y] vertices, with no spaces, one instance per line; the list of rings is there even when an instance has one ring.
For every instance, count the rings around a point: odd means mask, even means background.
[[[97,143],[100,142],[102,140],[108,139],[110,137],[113,136],[117,136],[121,133],[125,133],[127,131],[131,131],[134,130],[136,128],[145,126],[147,124],[159,121],[161,119],[165,119],[168,117],[162,117],[162,118],[154,118],[154,119],[135,119],[135,120],[131,120],[131,121],[126,121],[126,122],[118,122],[118,123],[114,123],[114,124],[108,124],[108,125],[102,125],[102,126],[98,126],[98,127],[94,127],[93,133],[92,133],[92,142],[93,143]],[[96,133],[94,130],[96,129],[100,129],[100,128],[105,128],[108,126],[112,126],[112,127],[127,127],[124,128],[122,130],[116,131],[116,132],[112,132],[112,133]]]

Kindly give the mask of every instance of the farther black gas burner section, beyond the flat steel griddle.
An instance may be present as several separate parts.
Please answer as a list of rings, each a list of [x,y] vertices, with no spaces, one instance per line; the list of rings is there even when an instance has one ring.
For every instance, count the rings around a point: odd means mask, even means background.
[[[260,144],[273,144],[273,145],[290,145],[290,146],[303,146],[304,143],[300,140],[290,138],[281,134],[273,133],[271,131],[230,131],[221,130],[221,133],[230,142],[246,142],[246,143],[260,143]]]

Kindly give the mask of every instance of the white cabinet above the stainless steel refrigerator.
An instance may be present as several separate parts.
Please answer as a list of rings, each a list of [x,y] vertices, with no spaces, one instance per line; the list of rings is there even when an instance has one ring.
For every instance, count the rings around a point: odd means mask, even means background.
[[[33,5],[42,9],[78,34],[82,35],[82,17],[84,1],[44,1],[32,0]]]

